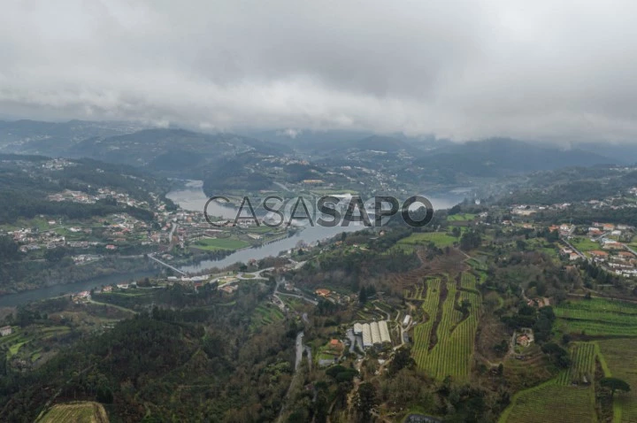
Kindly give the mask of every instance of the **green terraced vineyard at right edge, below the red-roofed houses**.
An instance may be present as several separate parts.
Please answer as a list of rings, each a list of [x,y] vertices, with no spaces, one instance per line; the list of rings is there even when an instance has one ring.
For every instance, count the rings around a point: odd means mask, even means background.
[[[637,304],[592,298],[560,304],[555,313],[566,333],[637,336]]]

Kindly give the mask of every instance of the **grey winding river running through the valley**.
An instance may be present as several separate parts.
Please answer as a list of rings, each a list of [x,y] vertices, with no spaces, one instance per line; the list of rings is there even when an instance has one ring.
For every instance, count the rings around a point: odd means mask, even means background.
[[[466,191],[457,190],[447,194],[439,194],[434,196],[425,195],[434,205],[434,210],[447,209],[461,202],[464,199]],[[180,207],[188,211],[203,212],[203,206],[208,198],[203,194],[201,181],[188,181],[185,188],[171,191],[166,195],[173,200],[174,203],[180,204]],[[211,203],[209,212],[212,215],[222,216],[226,219],[234,219],[235,209],[222,204]],[[280,251],[294,248],[296,243],[303,241],[306,243],[317,242],[342,232],[354,232],[364,227],[357,223],[352,223],[349,227],[305,227],[302,231],[283,240],[272,242],[263,247],[251,248],[236,251],[226,258],[219,260],[204,260],[197,265],[184,265],[180,270],[184,272],[201,272],[212,267],[224,267],[232,265],[236,262],[246,262],[252,258],[260,259],[269,256],[277,256]],[[42,300],[53,296],[61,296],[67,293],[89,290],[91,288],[101,287],[102,285],[113,283],[125,283],[141,279],[146,276],[152,276],[153,273],[119,273],[109,276],[101,276],[90,279],[88,281],[74,282],[65,285],[54,285],[47,288],[37,288],[19,294],[10,294],[0,296],[0,306],[14,306],[19,304],[27,304],[32,301]]]

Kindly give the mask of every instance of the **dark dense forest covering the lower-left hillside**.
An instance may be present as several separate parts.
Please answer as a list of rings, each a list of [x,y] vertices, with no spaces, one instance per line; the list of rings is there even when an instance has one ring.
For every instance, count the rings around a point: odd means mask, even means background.
[[[168,291],[165,305],[192,304]],[[294,321],[249,330],[249,311],[265,292],[242,287],[236,305],[216,293],[205,307],[152,309],[88,337],[33,373],[3,368],[0,419],[34,421],[44,404],[90,399],[113,421],[272,421],[292,373]],[[289,326],[293,325],[293,326]]]

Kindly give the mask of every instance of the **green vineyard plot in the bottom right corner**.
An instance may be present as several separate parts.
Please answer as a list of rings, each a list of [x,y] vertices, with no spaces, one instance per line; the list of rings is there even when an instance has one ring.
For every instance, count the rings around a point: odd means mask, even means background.
[[[628,393],[615,394],[613,404],[615,422],[637,421],[637,339],[598,341],[607,376],[618,377],[631,386]]]

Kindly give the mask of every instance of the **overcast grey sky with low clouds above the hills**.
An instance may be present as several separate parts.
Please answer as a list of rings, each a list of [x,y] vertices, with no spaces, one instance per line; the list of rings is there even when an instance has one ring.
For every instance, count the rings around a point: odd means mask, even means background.
[[[4,0],[0,114],[637,139],[637,3]]]

